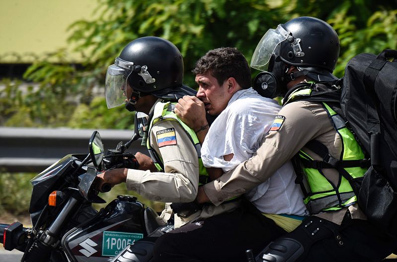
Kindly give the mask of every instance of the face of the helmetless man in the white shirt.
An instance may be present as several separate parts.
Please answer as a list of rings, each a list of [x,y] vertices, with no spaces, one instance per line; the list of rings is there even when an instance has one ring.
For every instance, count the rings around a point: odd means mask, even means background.
[[[208,72],[196,75],[195,81],[199,84],[197,97],[204,103],[205,110],[211,116],[219,115],[232,97],[227,92],[228,81],[225,80],[222,85],[219,85],[218,80]]]

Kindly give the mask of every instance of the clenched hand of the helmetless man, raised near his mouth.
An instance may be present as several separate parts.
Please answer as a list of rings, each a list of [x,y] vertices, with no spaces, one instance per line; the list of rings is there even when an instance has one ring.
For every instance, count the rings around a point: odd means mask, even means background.
[[[204,103],[196,96],[184,96],[175,106],[175,114],[196,133],[208,129]]]

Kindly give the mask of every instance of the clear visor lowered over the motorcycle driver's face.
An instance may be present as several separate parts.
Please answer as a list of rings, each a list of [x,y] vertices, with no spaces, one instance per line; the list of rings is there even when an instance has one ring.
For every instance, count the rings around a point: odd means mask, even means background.
[[[131,72],[131,69],[116,65],[108,67],[105,79],[105,97],[108,108],[125,104],[127,99],[127,78]]]

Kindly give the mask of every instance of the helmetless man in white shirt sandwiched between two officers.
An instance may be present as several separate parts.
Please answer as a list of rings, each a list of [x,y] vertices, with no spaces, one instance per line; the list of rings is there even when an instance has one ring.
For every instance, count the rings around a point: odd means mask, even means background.
[[[199,59],[193,72],[199,84],[197,97],[180,99],[175,113],[194,127],[202,142],[201,159],[214,180],[255,153],[280,107],[250,87],[247,61],[235,48],[209,51]],[[196,122],[205,116],[205,111],[217,116],[209,129],[207,123],[197,126]],[[295,218],[305,215],[306,208],[294,181],[295,173],[288,162],[249,192],[249,201],[240,200],[236,210],[160,237],[155,261],[244,261],[245,250],[259,252],[264,242],[300,224],[300,219]]]

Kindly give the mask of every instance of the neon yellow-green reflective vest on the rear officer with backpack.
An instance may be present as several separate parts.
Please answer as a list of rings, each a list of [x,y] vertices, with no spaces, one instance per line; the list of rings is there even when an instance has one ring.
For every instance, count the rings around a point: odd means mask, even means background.
[[[297,90],[288,97],[287,103],[296,100],[295,98],[300,95],[310,96],[310,91]],[[345,160],[364,159],[364,153],[362,152],[361,147],[351,131],[346,128],[344,120],[334,110],[332,110],[329,105],[323,103],[323,106],[335,131],[338,133],[342,141],[343,147],[339,163],[342,163]],[[299,151],[298,156],[302,161],[314,161],[303,150]],[[321,168],[316,169],[304,166],[302,169],[305,175],[304,179],[306,179],[307,184],[309,185],[309,188],[306,189],[308,195],[305,196],[304,202],[313,214],[321,211],[338,210],[355,203],[357,201],[357,197],[354,195],[349,181],[343,177],[340,172],[346,171],[354,179],[363,177],[367,170],[366,168],[361,167],[341,168],[339,172],[339,180],[337,184],[334,185],[331,180],[327,179]]]

